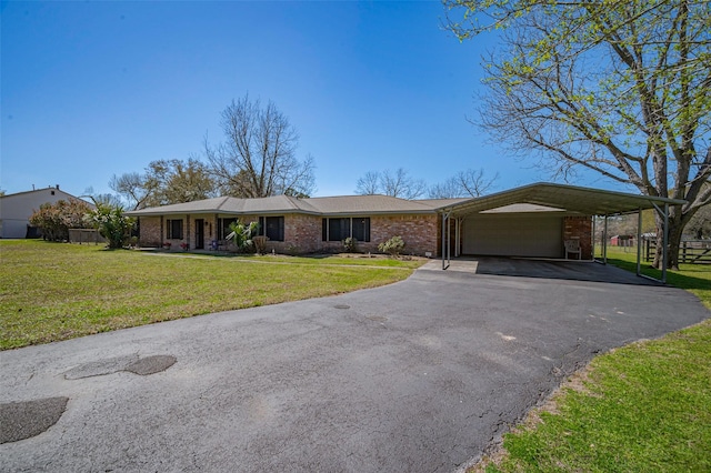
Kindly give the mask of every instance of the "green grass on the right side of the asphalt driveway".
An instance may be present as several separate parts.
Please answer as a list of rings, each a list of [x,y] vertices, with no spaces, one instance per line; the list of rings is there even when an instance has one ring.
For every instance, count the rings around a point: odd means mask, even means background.
[[[637,271],[637,254],[608,262]],[[660,272],[642,263],[643,273]],[[668,282],[711,309],[711,265],[682,264]],[[673,314],[670,314],[673,316]],[[711,321],[595,358],[504,435],[487,472],[711,471]]]

